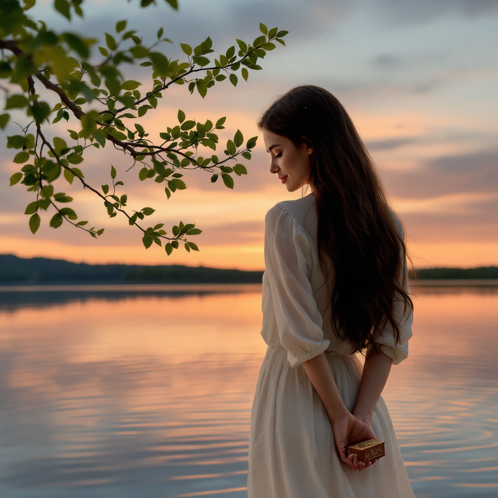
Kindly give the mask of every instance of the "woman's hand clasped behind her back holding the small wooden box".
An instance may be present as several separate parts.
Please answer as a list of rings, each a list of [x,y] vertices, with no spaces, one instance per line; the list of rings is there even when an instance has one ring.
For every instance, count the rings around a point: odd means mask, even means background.
[[[346,447],[375,438],[372,425],[365,420],[355,417],[351,412],[347,412],[342,417],[331,419],[334,439],[341,461],[349,465],[352,471],[362,471],[370,467],[373,462],[360,462],[357,455],[348,457]]]

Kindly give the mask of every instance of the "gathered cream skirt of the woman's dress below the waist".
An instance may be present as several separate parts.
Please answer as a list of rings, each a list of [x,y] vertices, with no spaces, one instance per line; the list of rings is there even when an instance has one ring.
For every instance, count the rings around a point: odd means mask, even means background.
[[[351,411],[362,365],[356,356],[325,355]],[[252,406],[249,498],[413,498],[382,398],[372,427],[386,454],[366,470],[352,472],[339,459],[327,412],[304,367],[291,367],[283,347],[268,347]]]

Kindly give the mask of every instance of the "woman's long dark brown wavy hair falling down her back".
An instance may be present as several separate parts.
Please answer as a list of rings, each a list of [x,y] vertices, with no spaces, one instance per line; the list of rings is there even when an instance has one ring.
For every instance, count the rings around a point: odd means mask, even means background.
[[[273,102],[258,127],[313,148],[309,184],[335,335],[361,351],[376,347],[376,332],[390,324],[398,342],[396,301],[404,313],[413,309],[404,288],[406,245],[348,113],[327,90],[304,85]]]

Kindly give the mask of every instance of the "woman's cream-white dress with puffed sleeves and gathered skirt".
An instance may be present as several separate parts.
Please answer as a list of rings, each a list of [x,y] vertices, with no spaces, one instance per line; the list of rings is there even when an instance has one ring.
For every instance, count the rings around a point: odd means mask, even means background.
[[[339,392],[353,410],[362,367],[330,326],[316,231],[313,193],[276,204],[265,218],[261,335],[268,349],[252,406],[249,498],[413,498],[383,399],[372,426],[385,442],[386,455],[352,472],[339,460],[327,412],[301,365],[325,352]],[[394,345],[389,327],[376,337],[393,365],[408,356],[413,317],[403,314],[399,308],[400,344]]]

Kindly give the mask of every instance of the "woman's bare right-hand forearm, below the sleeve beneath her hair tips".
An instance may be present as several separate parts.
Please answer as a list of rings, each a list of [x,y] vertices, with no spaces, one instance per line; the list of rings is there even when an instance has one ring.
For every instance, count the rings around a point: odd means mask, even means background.
[[[373,410],[387,382],[392,359],[382,351],[371,349],[365,356],[362,381],[356,398],[353,415],[370,424]]]

